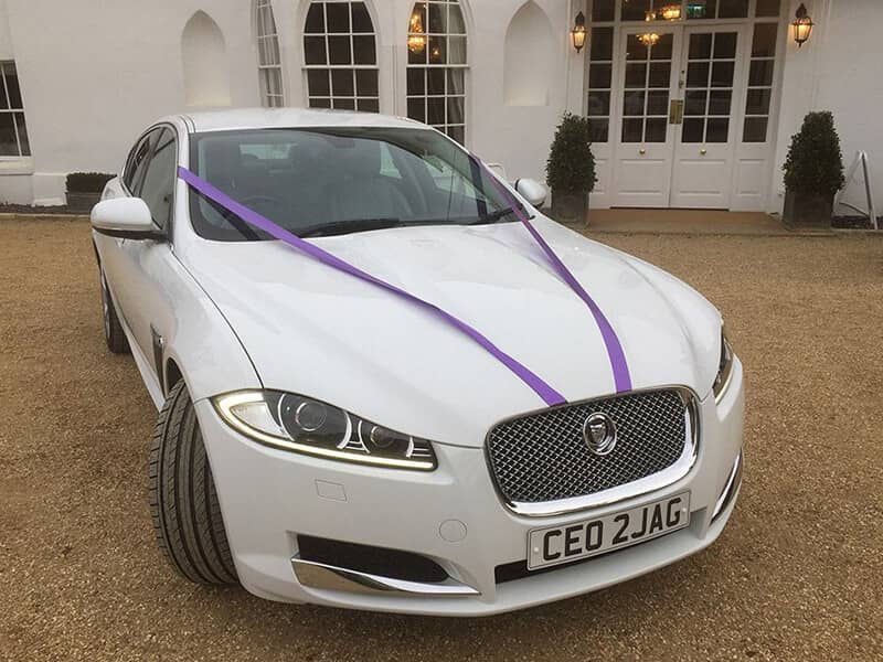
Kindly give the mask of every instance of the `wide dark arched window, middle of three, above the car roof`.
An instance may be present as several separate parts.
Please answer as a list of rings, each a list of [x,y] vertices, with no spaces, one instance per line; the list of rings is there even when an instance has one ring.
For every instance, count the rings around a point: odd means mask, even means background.
[[[310,108],[380,111],[374,25],[364,2],[311,2],[304,62]]]

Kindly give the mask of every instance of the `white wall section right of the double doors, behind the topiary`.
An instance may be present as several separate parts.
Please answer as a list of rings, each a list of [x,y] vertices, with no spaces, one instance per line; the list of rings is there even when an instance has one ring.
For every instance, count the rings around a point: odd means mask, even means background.
[[[831,110],[840,134],[843,164],[857,150],[871,158],[872,190],[883,207],[883,2],[880,0],[805,0],[816,28],[798,49],[789,33],[776,141],[774,195],[769,211],[780,212],[785,190],[781,164],[790,138],[810,110]],[[791,0],[789,17],[799,2]],[[792,19],[791,19],[792,20]],[[863,190],[848,189],[848,199],[864,206]],[[841,210],[847,212],[847,210]],[[880,212],[877,212],[880,213]]]

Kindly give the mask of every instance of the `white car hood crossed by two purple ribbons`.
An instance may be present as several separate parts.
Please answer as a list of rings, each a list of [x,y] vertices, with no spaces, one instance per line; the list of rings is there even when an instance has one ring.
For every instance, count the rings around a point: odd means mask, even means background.
[[[542,216],[534,224],[610,321],[632,387],[677,384],[704,397],[717,366],[717,311],[646,263]],[[315,242],[472,325],[568,402],[615,393],[589,310],[520,223],[404,227]],[[267,388],[471,447],[501,419],[545,406],[437,314],[280,242],[200,239],[179,257]]]

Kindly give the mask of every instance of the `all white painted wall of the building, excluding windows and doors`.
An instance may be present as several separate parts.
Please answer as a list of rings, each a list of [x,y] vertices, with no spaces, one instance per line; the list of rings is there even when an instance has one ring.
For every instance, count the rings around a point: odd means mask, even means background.
[[[789,17],[797,0],[783,0]],[[274,0],[287,103],[306,104],[301,26],[308,0]],[[464,1],[469,30],[467,143],[511,178],[544,179],[549,145],[562,113],[583,107],[583,54],[570,44],[574,15],[585,0]],[[381,110],[405,114],[405,34],[412,0],[369,0],[380,65]],[[798,50],[788,38],[776,166],[768,173],[768,207],[781,207],[780,164],[806,111],[834,111],[847,164],[854,150],[871,153],[874,188],[883,206],[883,22],[880,0],[807,0],[817,22]],[[0,0],[0,57],[14,58],[22,85],[33,158],[0,163],[0,200],[61,202],[64,175],[76,170],[115,172],[140,130],[156,118],[187,111],[182,33],[204,11],[223,36],[211,57],[222,94],[192,97],[202,105],[259,103],[249,0]],[[519,11],[531,21],[510,22]],[[531,30],[535,26],[535,31]],[[509,66],[504,65],[507,34]],[[513,36],[514,34],[514,36]],[[513,46],[525,43],[524,51]],[[536,44],[544,43],[542,53]],[[514,61],[513,61],[514,58]],[[535,64],[534,64],[535,63]],[[531,64],[542,70],[530,70]],[[203,70],[205,61],[198,63]],[[526,89],[542,79],[542,94]],[[226,86],[228,85],[228,93]],[[509,94],[507,95],[507,90]],[[513,93],[517,92],[517,94]],[[508,103],[507,103],[508,96]],[[33,174],[31,174],[33,173]]]

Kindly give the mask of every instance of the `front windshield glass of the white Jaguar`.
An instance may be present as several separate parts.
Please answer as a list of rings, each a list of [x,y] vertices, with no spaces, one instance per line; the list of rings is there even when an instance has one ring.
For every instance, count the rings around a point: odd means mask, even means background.
[[[198,134],[190,166],[232,199],[301,237],[517,220],[514,197],[507,200],[466,151],[428,129]],[[201,236],[269,238],[204,196],[191,192],[190,199]]]

